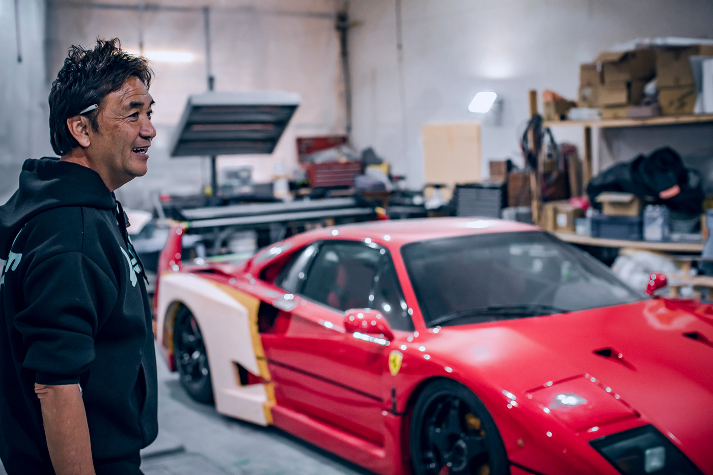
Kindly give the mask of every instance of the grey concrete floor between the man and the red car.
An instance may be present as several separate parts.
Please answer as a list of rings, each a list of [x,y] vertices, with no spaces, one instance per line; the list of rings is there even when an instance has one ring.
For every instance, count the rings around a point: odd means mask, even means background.
[[[158,439],[142,452],[145,475],[372,474],[279,429],[231,419],[194,402],[163,359],[158,424]],[[1,465],[0,475],[6,475]]]

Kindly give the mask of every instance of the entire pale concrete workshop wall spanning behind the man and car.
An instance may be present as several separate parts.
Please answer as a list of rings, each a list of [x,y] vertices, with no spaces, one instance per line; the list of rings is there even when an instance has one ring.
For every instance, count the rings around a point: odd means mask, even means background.
[[[163,9],[114,9],[113,2],[19,2],[24,61],[16,61],[14,1],[0,0],[0,199],[16,186],[27,157],[51,154],[46,126],[48,83],[71,44],[91,46],[97,36],[118,36],[126,48],[192,53],[189,63],[154,63],[152,86],[158,136],[148,176],[120,190],[127,205],[145,207],[154,190],[195,193],[207,183],[202,158],[168,157],[168,139],[190,93],[206,89],[202,14],[189,0],[150,2]],[[116,2],[128,5],[140,1]],[[341,0],[231,0],[212,5],[212,63],[217,91],[282,89],[303,103],[270,156],[222,157],[222,164],[255,166],[272,178],[273,165],[295,170],[294,138],[343,133],[344,91],[334,14]],[[165,7],[170,7],[166,9]],[[176,8],[178,7],[178,9]],[[575,96],[578,64],[640,36],[711,36],[707,0],[351,0],[356,26],[349,58],[354,87],[354,144],[373,145],[409,176],[423,180],[421,125],[471,121],[467,106],[477,91],[503,98],[499,125],[483,124],[487,160],[517,156],[517,135],[528,115],[527,91],[550,88]],[[45,29],[45,15],[46,21]],[[401,53],[397,48],[401,39]],[[46,48],[45,48],[46,45]],[[46,62],[45,62],[46,53]],[[602,164],[670,143],[684,155],[713,162],[713,128],[609,131]],[[576,130],[555,131],[580,141]],[[709,146],[710,145],[710,146]],[[713,171],[711,172],[713,174]]]

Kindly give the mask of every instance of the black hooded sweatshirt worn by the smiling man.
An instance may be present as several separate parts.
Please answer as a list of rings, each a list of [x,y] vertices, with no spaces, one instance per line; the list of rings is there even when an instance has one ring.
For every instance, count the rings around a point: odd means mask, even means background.
[[[9,475],[53,474],[34,384],[82,390],[101,465],[138,459],[158,432],[143,270],[123,210],[90,168],[26,160],[0,206],[0,457]]]

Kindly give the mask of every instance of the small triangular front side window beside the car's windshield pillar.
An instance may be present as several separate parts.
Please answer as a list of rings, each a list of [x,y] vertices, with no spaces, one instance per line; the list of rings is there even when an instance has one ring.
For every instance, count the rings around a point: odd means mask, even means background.
[[[414,330],[414,322],[409,316],[409,307],[401,293],[394,262],[391,262],[391,257],[388,255],[383,257],[381,270],[376,276],[376,287],[374,293],[369,295],[369,300],[371,301],[369,306],[380,310],[391,328],[406,332]]]

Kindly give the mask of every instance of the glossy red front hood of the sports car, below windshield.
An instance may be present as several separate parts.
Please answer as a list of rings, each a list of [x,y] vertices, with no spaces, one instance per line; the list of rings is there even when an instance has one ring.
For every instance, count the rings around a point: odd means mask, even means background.
[[[546,407],[573,431],[640,417],[699,451],[713,440],[712,322],[670,300],[645,300],[443,327],[428,346],[467,365],[460,367],[466,378],[476,369],[478,379],[506,397]],[[559,400],[569,396],[584,402]],[[705,452],[697,454],[699,463],[713,465],[713,454]]]

